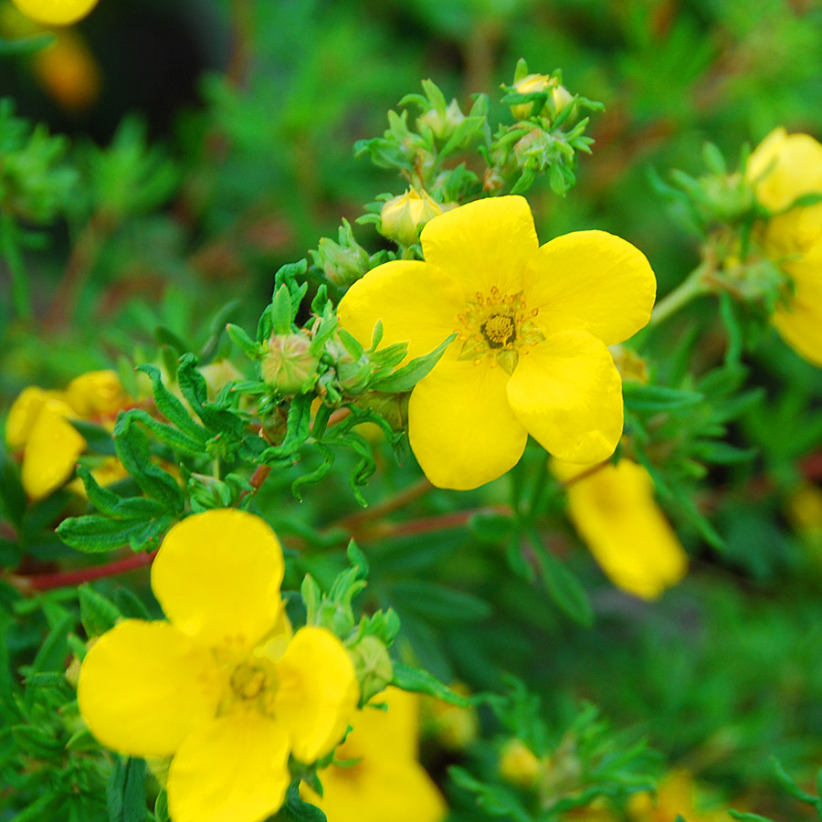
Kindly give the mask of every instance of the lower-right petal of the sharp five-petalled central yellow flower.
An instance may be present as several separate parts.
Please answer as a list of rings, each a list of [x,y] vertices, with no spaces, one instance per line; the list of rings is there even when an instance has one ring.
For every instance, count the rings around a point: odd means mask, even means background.
[[[622,436],[622,380],[606,346],[561,332],[520,353],[508,399],[522,426],[554,457],[599,462]]]

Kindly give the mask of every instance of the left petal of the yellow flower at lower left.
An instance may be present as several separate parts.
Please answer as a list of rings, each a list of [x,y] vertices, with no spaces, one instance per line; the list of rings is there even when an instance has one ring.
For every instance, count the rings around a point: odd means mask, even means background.
[[[100,743],[170,756],[192,728],[212,720],[224,684],[208,648],[167,622],[127,619],[91,646],[77,698]]]

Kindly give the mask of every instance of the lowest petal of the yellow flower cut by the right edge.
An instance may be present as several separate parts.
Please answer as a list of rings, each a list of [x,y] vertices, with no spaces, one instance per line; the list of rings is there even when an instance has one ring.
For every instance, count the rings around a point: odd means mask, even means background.
[[[794,295],[771,317],[775,329],[797,353],[822,366],[822,256],[786,263]]]

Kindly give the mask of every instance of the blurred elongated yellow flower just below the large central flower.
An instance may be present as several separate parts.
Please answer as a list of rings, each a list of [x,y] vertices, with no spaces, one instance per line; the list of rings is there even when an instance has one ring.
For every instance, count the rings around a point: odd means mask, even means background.
[[[587,469],[554,462],[552,470],[569,482],[568,516],[614,585],[656,599],[685,575],[688,556],[654,501],[646,469],[621,459]]]

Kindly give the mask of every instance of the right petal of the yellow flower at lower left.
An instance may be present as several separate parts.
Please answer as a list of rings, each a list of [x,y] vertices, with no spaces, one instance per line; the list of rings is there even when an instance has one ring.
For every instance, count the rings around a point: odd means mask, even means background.
[[[340,742],[360,698],[342,642],[321,627],[303,627],[277,663],[277,722],[290,735],[291,753],[311,763]]]

